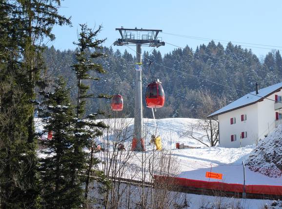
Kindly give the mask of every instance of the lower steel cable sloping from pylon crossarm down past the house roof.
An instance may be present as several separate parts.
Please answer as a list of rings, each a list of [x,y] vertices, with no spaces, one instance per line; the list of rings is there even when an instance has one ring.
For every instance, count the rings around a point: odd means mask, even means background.
[[[136,52],[134,49],[130,48],[129,46],[127,46],[127,45],[125,45],[125,46],[128,47],[129,49],[131,49],[132,51]],[[136,52],[136,53],[138,53],[138,52]],[[150,59],[148,59],[147,57],[143,56],[141,53],[139,53],[139,54],[140,54],[142,57],[144,57],[145,59],[150,60]],[[262,98],[262,99],[274,101],[274,102],[276,102],[276,103],[282,103],[282,102],[279,102],[279,101],[275,101],[275,100],[273,100],[273,99],[269,99],[269,98],[260,96],[260,95],[258,95],[258,94],[253,94],[253,93],[250,93],[250,92],[247,92],[247,91],[238,89],[238,88],[229,87],[229,86],[227,86],[227,85],[220,84],[220,83],[217,83],[217,82],[215,82],[215,81],[211,81],[211,80],[208,80],[208,79],[205,79],[205,78],[201,78],[201,77],[198,77],[198,76],[195,76],[195,75],[191,75],[191,74],[189,74],[189,73],[187,73],[187,72],[183,72],[183,71],[181,71],[181,70],[176,70],[176,69],[173,69],[173,68],[170,68],[170,67],[161,65],[161,64],[159,64],[159,63],[157,63],[157,62],[154,62],[154,64],[156,64],[156,65],[158,65],[158,66],[161,66],[161,67],[163,67],[163,68],[166,68],[166,69],[170,69],[170,70],[174,70],[174,71],[176,71],[176,72],[180,72],[180,73],[186,74],[186,75],[188,75],[188,76],[191,76],[191,77],[193,77],[193,78],[197,78],[197,79],[202,80],[202,81],[206,81],[206,82],[209,82],[209,83],[212,83],[212,84],[216,84],[216,85],[219,85],[219,86],[222,86],[222,87],[227,87],[227,88],[230,88],[230,89],[234,89],[234,90],[237,90],[237,91],[241,91],[241,92],[243,92],[243,93],[250,94],[250,95],[253,95],[253,96],[257,96],[257,97],[260,97],[260,98]]]

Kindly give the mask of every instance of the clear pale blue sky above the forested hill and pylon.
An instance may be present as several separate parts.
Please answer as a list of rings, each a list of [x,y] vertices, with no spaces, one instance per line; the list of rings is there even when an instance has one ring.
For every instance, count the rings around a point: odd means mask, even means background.
[[[259,57],[271,49],[282,50],[281,0],[64,0],[61,2],[60,14],[71,16],[73,24],[73,27],[54,28],[53,32],[57,38],[53,42],[48,42],[47,46],[54,45],[60,50],[75,48],[72,43],[77,40],[80,23],[87,23],[92,28],[102,24],[103,30],[99,37],[107,37],[104,45],[108,47],[120,37],[115,28],[123,26],[271,45],[270,47],[241,44],[249,46],[246,48],[251,48]],[[205,39],[184,38],[164,33],[159,35],[163,41],[181,47],[188,45],[194,50],[198,45],[209,42]],[[123,51],[126,47],[113,48]],[[166,44],[159,50],[163,54],[174,48]],[[127,50],[130,51],[128,48]],[[142,51],[144,50],[151,49],[143,47]]]

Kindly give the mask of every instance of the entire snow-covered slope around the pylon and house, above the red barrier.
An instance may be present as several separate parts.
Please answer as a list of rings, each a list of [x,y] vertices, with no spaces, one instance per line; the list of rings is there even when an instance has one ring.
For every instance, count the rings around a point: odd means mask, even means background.
[[[124,142],[126,150],[130,149],[133,130],[133,119],[105,119],[112,129],[126,130],[127,140]],[[179,170],[179,177],[207,180],[207,181],[222,181],[225,183],[243,183],[243,167],[242,161],[246,161],[255,146],[247,146],[242,148],[222,148],[222,147],[205,147],[195,139],[184,136],[188,126],[191,123],[197,123],[198,119],[186,118],[171,118],[152,120],[144,119],[144,138],[146,146],[146,155],[150,156],[153,153],[153,145],[149,145],[148,141],[151,134],[156,133],[162,138],[163,148],[171,150],[172,156],[176,157],[176,164]],[[125,128],[126,127],[126,128]],[[42,130],[42,124],[37,126],[37,130]],[[114,135],[114,134],[113,134]],[[204,133],[197,132],[196,137],[203,137]],[[105,133],[104,136],[112,139],[111,133]],[[207,143],[207,139],[203,137]],[[103,138],[96,139],[99,142]],[[196,146],[197,149],[175,149],[176,142],[184,143],[185,145]],[[102,153],[100,154],[102,157]],[[156,155],[158,157],[158,155]],[[134,153],[128,161],[129,165],[141,167],[142,153]],[[130,164],[131,163],[131,164]],[[147,164],[148,165],[148,164]],[[222,174],[222,180],[208,179],[205,177],[206,172],[215,172]],[[138,178],[139,175],[136,175]],[[280,185],[282,186],[282,177],[271,178],[263,174],[253,172],[246,167],[246,184],[256,185]]]

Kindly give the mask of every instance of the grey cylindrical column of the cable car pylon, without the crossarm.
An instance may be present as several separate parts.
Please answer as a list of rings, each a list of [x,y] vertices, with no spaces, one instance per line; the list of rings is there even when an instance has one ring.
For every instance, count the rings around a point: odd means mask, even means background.
[[[137,63],[141,63],[141,44],[136,44]],[[142,69],[142,68],[141,68]],[[136,70],[134,138],[137,140],[135,151],[144,151],[143,147],[143,111],[142,111],[142,70]]]

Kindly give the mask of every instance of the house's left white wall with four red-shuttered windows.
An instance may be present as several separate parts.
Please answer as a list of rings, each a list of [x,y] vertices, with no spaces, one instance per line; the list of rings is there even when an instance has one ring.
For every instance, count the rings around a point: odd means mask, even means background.
[[[246,114],[246,121],[241,121],[241,115]],[[253,144],[258,135],[258,103],[248,105],[219,117],[220,147],[238,148]],[[235,124],[230,124],[231,118],[236,118]],[[247,138],[240,139],[242,132],[247,132]],[[231,135],[236,134],[236,141],[231,141]]]

